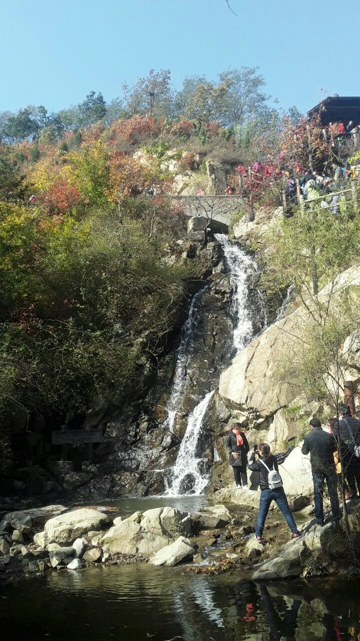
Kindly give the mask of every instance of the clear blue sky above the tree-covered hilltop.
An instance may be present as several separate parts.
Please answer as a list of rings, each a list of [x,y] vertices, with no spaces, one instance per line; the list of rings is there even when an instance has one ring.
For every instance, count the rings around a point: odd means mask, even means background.
[[[0,111],[49,111],[121,94],[149,69],[186,75],[259,66],[279,106],[360,93],[360,1],[0,0]]]

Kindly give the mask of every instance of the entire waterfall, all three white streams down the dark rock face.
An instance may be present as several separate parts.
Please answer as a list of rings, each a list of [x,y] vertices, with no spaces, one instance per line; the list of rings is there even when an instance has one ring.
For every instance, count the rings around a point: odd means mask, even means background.
[[[231,244],[225,234],[215,234],[215,238],[224,252],[225,261],[230,271],[231,284],[234,289],[231,311],[236,318],[236,326],[233,334],[233,345],[236,352],[238,352],[249,344],[254,334],[248,305],[248,278],[250,275],[255,274],[258,268],[256,262],[241,247]],[[197,301],[202,292],[199,292],[194,297],[190,306],[181,345],[177,351],[176,374],[167,407],[169,429],[173,428],[176,414],[181,408],[181,401],[186,387],[186,363],[188,363],[189,359],[188,345],[191,341],[192,328],[196,319]],[[227,365],[226,360],[224,361],[224,367],[225,365]],[[208,392],[199,401],[188,418],[184,438],[177,454],[176,463],[172,468],[171,485],[167,489],[168,496],[189,494],[190,492],[192,494],[200,494],[208,483],[208,474],[204,469],[204,465],[202,465],[198,445],[202,421],[214,392],[215,390]]]

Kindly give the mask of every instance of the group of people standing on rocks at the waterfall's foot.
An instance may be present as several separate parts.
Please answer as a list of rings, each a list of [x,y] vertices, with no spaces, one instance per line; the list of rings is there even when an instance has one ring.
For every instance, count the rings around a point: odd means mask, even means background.
[[[323,492],[325,485],[329,494],[331,512],[334,520],[341,519],[339,494],[342,499],[353,501],[360,495],[360,420],[351,415],[347,404],[340,406],[339,418],[330,418],[327,429],[322,428],[319,419],[309,421],[310,431],[304,438],[302,454],[310,455],[311,472],[314,486],[315,519],[320,526],[324,524]],[[272,454],[270,445],[255,444],[249,457],[249,442],[240,423],[229,429],[225,439],[229,463],[233,468],[236,488],[248,490],[247,467],[258,472],[260,503],[256,539],[261,542],[266,516],[272,501],[277,503],[293,538],[299,538],[288,499],[282,487],[279,474],[279,460],[284,454]],[[290,453],[292,447],[288,449]],[[252,488],[250,488],[252,489]],[[254,487],[257,489],[257,487]]]

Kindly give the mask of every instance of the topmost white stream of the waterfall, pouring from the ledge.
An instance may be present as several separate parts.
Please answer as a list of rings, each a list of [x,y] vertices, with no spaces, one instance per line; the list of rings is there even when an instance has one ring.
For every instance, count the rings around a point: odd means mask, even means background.
[[[225,234],[215,234],[222,246],[230,270],[230,281],[234,287],[233,313],[236,317],[234,347],[237,352],[246,347],[252,338],[252,320],[247,306],[247,279],[258,271],[256,262],[241,247],[229,242]]]

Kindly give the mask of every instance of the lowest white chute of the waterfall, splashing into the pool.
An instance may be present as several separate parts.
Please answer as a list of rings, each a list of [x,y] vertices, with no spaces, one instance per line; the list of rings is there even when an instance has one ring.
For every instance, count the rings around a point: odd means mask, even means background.
[[[172,469],[172,485],[168,488],[168,496],[188,494],[187,488],[184,487],[187,480],[186,477],[192,483],[192,494],[201,494],[208,482],[207,476],[200,469],[202,460],[197,456],[197,444],[201,433],[202,420],[214,392],[215,390],[212,390],[212,392],[206,394],[206,397],[200,401],[189,416],[188,426],[181,441],[176,464]]]

